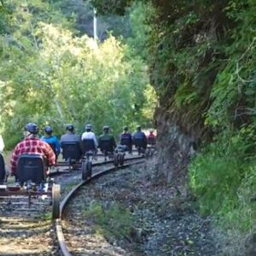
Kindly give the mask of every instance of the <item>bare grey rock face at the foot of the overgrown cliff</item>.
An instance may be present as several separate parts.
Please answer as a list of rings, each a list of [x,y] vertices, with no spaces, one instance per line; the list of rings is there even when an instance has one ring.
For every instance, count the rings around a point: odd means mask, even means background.
[[[186,179],[186,167],[195,154],[198,138],[185,135],[166,108],[156,110],[155,120],[158,128],[158,173],[166,178],[167,183]]]

